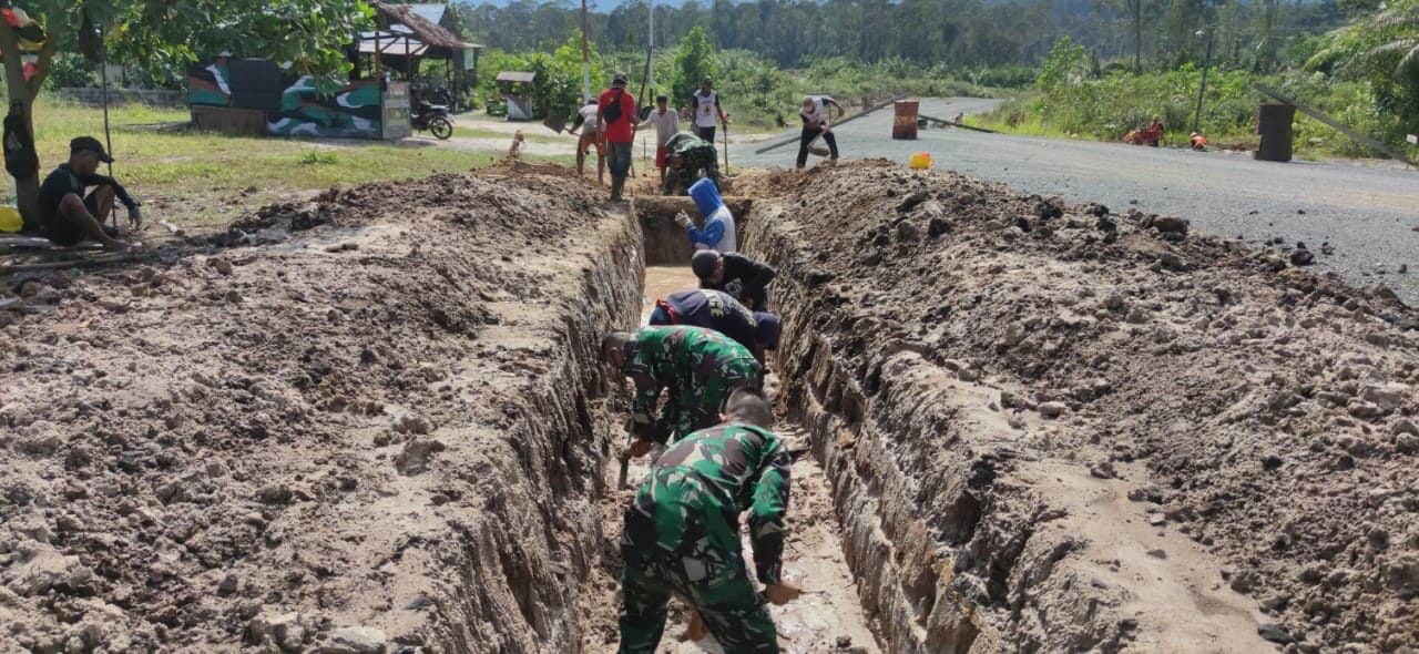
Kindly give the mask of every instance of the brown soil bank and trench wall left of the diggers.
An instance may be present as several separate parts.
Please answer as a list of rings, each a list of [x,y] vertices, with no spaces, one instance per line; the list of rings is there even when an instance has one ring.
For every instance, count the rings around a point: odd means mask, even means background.
[[[575,648],[634,226],[499,169],[234,231],[7,312],[0,650]]]

